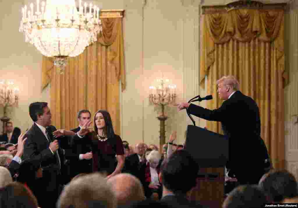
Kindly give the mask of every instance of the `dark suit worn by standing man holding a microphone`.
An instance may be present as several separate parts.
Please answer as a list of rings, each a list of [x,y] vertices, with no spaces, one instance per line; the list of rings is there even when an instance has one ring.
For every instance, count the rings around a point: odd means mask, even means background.
[[[54,132],[56,128],[54,126],[49,126],[50,132]],[[24,144],[24,155],[23,159],[36,159],[40,161],[41,167],[43,168],[43,180],[42,187],[44,188],[43,195],[47,199],[41,201],[40,207],[55,207],[55,203],[58,199],[59,185],[60,183],[60,170],[59,163],[57,161],[56,155],[49,149],[50,142],[46,139],[46,136],[41,131],[41,129],[34,123],[27,134],[24,136],[27,138]],[[67,145],[66,138],[62,138],[59,141],[59,153],[61,161],[61,169],[64,165],[64,156],[61,147]]]

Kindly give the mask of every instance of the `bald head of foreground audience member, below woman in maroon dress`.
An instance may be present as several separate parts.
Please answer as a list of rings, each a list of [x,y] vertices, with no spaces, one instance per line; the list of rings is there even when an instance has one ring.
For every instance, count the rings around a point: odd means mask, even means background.
[[[145,200],[141,181],[128,173],[121,173],[108,179],[108,185],[116,195],[117,207],[130,207]]]

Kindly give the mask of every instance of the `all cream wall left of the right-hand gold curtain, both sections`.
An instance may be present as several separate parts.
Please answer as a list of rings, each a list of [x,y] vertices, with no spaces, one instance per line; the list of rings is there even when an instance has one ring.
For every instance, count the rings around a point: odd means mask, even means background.
[[[41,54],[24,42],[18,32],[21,7],[33,2],[1,2],[1,78],[13,78],[20,88],[19,108],[9,115],[15,126],[25,130],[32,121],[28,106],[34,101],[49,101],[49,88],[41,93]],[[124,9],[123,19],[127,88],[121,95],[121,136],[136,144],[159,144],[159,114],[149,104],[149,86],[156,78],[173,80],[177,101],[186,101],[203,90],[199,88],[199,0],[122,0],[87,1],[102,9]],[[9,9],[7,9],[9,8]],[[202,103],[204,105],[204,102]],[[1,113],[1,112],[0,112]],[[167,107],[166,139],[177,130],[178,144],[184,142],[187,124],[185,110]],[[0,114],[2,115],[2,114]],[[204,121],[196,118],[196,124]]]

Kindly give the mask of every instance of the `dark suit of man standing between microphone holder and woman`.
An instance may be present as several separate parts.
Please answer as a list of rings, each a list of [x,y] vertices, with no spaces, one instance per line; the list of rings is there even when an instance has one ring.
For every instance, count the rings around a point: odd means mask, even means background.
[[[80,131],[80,127],[72,129],[71,131],[77,133]],[[80,173],[90,173],[92,172],[92,159],[90,160],[80,160],[80,154],[85,154],[86,152],[91,152],[91,145],[86,142],[86,140],[77,139],[72,141],[71,152],[66,152],[66,159],[70,160],[70,176],[75,177]]]

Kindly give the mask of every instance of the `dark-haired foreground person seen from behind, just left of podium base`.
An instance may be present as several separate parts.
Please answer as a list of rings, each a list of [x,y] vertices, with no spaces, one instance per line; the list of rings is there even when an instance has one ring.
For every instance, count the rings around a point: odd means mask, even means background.
[[[196,201],[189,201],[187,194],[196,186],[199,167],[190,153],[185,150],[173,152],[164,159],[159,172],[162,182],[162,199],[170,207],[202,207]]]

